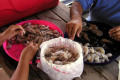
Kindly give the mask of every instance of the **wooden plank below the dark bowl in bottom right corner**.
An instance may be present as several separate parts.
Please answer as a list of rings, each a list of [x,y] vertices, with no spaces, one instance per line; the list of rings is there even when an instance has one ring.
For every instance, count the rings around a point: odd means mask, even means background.
[[[113,61],[110,64],[93,67],[96,69],[96,71],[101,73],[107,80],[117,80],[118,64],[115,61]]]

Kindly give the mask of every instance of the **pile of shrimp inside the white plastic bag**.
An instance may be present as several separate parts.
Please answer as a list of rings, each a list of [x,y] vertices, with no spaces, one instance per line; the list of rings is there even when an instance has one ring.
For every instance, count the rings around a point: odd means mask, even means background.
[[[48,62],[65,65],[75,62],[79,57],[79,54],[66,47],[50,47],[45,52],[45,58]]]

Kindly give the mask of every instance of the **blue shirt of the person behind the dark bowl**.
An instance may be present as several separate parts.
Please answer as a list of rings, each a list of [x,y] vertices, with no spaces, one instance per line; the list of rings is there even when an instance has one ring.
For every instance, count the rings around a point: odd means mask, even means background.
[[[120,25],[120,0],[75,0],[84,11],[90,10],[90,20]]]

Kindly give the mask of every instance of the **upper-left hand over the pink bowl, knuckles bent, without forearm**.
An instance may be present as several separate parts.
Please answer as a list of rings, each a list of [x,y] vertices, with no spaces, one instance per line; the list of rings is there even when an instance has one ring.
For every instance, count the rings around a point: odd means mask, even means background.
[[[22,28],[21,25],[11,25],[2,34],[5,36],[6,39],[11,39],[16,34],[25,34],[25,30]]]

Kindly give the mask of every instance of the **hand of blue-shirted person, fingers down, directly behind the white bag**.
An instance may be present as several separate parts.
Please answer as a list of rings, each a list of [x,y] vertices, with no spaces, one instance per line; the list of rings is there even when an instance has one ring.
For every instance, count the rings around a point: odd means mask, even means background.
[[[79,37],[81,31],[82,31],[81,19],[71,20],[66,25],[66,32],[68,33],[69,38],[72,40],[74,40],[76,34]]]

